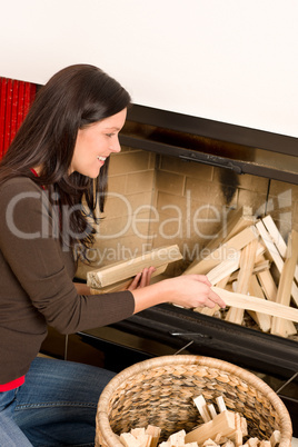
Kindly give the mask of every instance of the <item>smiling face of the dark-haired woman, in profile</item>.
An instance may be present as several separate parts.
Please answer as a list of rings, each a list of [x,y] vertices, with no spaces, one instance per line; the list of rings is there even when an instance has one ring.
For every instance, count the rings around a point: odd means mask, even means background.
[[[90,178],[98,177],[107,157],[121,150],[118,133],[126,122],[126,117],[127,109],[123,109],[79,129],[69,173],[77,171]]]

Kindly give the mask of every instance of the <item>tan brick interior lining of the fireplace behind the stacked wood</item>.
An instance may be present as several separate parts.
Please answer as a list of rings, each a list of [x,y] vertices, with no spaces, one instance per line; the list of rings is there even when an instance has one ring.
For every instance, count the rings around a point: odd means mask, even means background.
[[[297,185],[177,157],[122,147],[111,156],[108,185],[91,268],[177,244],[183,260],[169,265],[167,275],[179,275],[242,207],[270,213],[286,240],[298,228]],[[78,276],[89,269],[80,265]]]

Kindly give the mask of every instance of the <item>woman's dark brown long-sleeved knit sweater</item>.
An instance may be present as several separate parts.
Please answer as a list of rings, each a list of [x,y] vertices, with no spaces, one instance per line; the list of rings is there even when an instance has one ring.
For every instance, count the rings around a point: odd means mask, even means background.
[[[72,252],[62,249],[56,210],[29,178],[0,187],[0,384],[23,376],[52,326],[62,334],[132,315],[130,291],[78,295]]]

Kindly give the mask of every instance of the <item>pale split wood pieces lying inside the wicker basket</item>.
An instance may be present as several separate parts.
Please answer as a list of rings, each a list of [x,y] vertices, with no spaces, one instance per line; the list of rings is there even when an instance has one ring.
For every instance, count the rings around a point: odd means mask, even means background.
[[[218,414],[216,407],[208,405],[202,395],[193,399],[203,424],[188,434],[180,430],[158,444],[161,429],[149,425],[147,428],[122,433],[119,440],[126,447],[275,447],[279,444],[278,430],[272,433],[269,440],[249,437],[246,418],[239,413],[227,410],[221,396],[216,400]]]

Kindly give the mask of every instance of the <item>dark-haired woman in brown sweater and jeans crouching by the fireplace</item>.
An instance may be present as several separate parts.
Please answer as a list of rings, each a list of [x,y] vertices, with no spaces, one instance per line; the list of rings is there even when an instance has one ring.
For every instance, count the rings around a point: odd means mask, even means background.
[[[68,67],[39,91],[0,165],[1,446],[93,445],[98,398],[113,374],[37,358],[48,326],[72,334],[166,301],[225,307],[203,276],[149,285],[148,268],[128,290],[90,298],[72,282],[73,251],[93,241],[129,105],[100,69]]]

